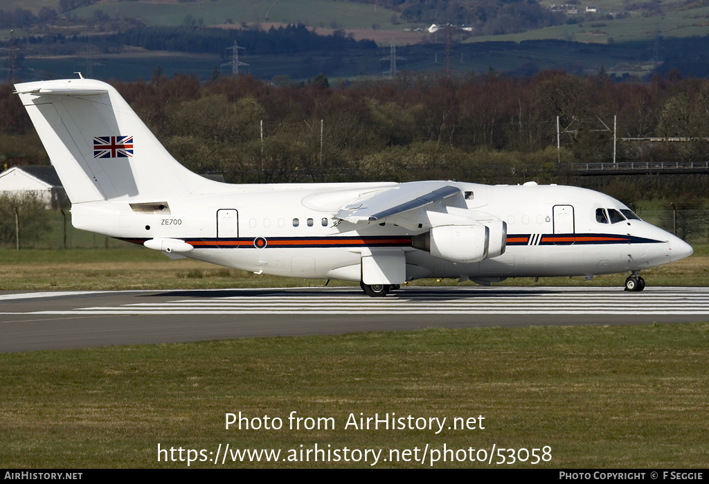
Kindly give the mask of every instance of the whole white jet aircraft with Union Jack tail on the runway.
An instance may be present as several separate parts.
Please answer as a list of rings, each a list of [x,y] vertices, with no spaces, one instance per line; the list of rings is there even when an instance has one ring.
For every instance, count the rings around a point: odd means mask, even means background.
[[[257,274],[359,281],[640,271],[692,254],[619,201],[571,186],[457,181],[233,185],[182,167],[112,86],[16,84],[72,202],[74,227]]]

